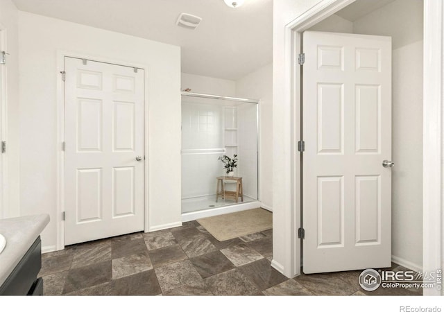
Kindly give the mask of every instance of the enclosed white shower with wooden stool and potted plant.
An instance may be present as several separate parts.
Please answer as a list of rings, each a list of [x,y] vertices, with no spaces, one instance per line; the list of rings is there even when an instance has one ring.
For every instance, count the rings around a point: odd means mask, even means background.
[[[182,221],[259,207],[258,103],[182,93]]]

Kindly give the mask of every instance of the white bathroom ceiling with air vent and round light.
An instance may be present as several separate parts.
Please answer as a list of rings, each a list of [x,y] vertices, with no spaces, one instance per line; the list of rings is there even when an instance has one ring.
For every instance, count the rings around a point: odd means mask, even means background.
[[[182,72],[237,80],[272,62],[273,0],[12,0],[22,11],[181,47]],[[202,18],[176,26],[180,13]]]

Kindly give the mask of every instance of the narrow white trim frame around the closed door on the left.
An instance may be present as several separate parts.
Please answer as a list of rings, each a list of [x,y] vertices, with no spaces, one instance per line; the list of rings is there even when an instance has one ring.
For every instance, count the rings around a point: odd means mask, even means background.
[[[62,220],[62,214],[65,211],[65,154],[62,150],[62,142],[65,141],[65,84],[61,78],[61,72],[65,69],[65,57],[80,58],[94,62],[103,62],[108,64],[116,64],[127,67],[137,67],[144,69],[144,155],[148,154],[148,78],[150,68],[148,64],[136,64],[133,62],[126,62],[122,60],[113,60],[103,56],[88,55],[87,53],[78,53],[72,51],[58,50],[57,51],[57,243],[56,246],[51,246],[44,250],[45,252],[65,249],[65,222]],[[144,232],[149,229],[149,192],[148,192],[148,159],[144,162]]]

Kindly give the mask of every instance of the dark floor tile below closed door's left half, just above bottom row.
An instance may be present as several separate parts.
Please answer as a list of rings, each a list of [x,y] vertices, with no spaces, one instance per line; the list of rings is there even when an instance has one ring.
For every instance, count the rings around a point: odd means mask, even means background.
[[[111,260],[74,268],[69,270],[63,293],[79,291],[83,288],[106,283],[111,279]]]

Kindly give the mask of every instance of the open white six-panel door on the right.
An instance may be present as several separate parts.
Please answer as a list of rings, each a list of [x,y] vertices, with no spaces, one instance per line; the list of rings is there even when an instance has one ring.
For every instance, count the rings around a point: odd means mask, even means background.
[[[391,38],[303,33],[303,272],[391,266]]]

